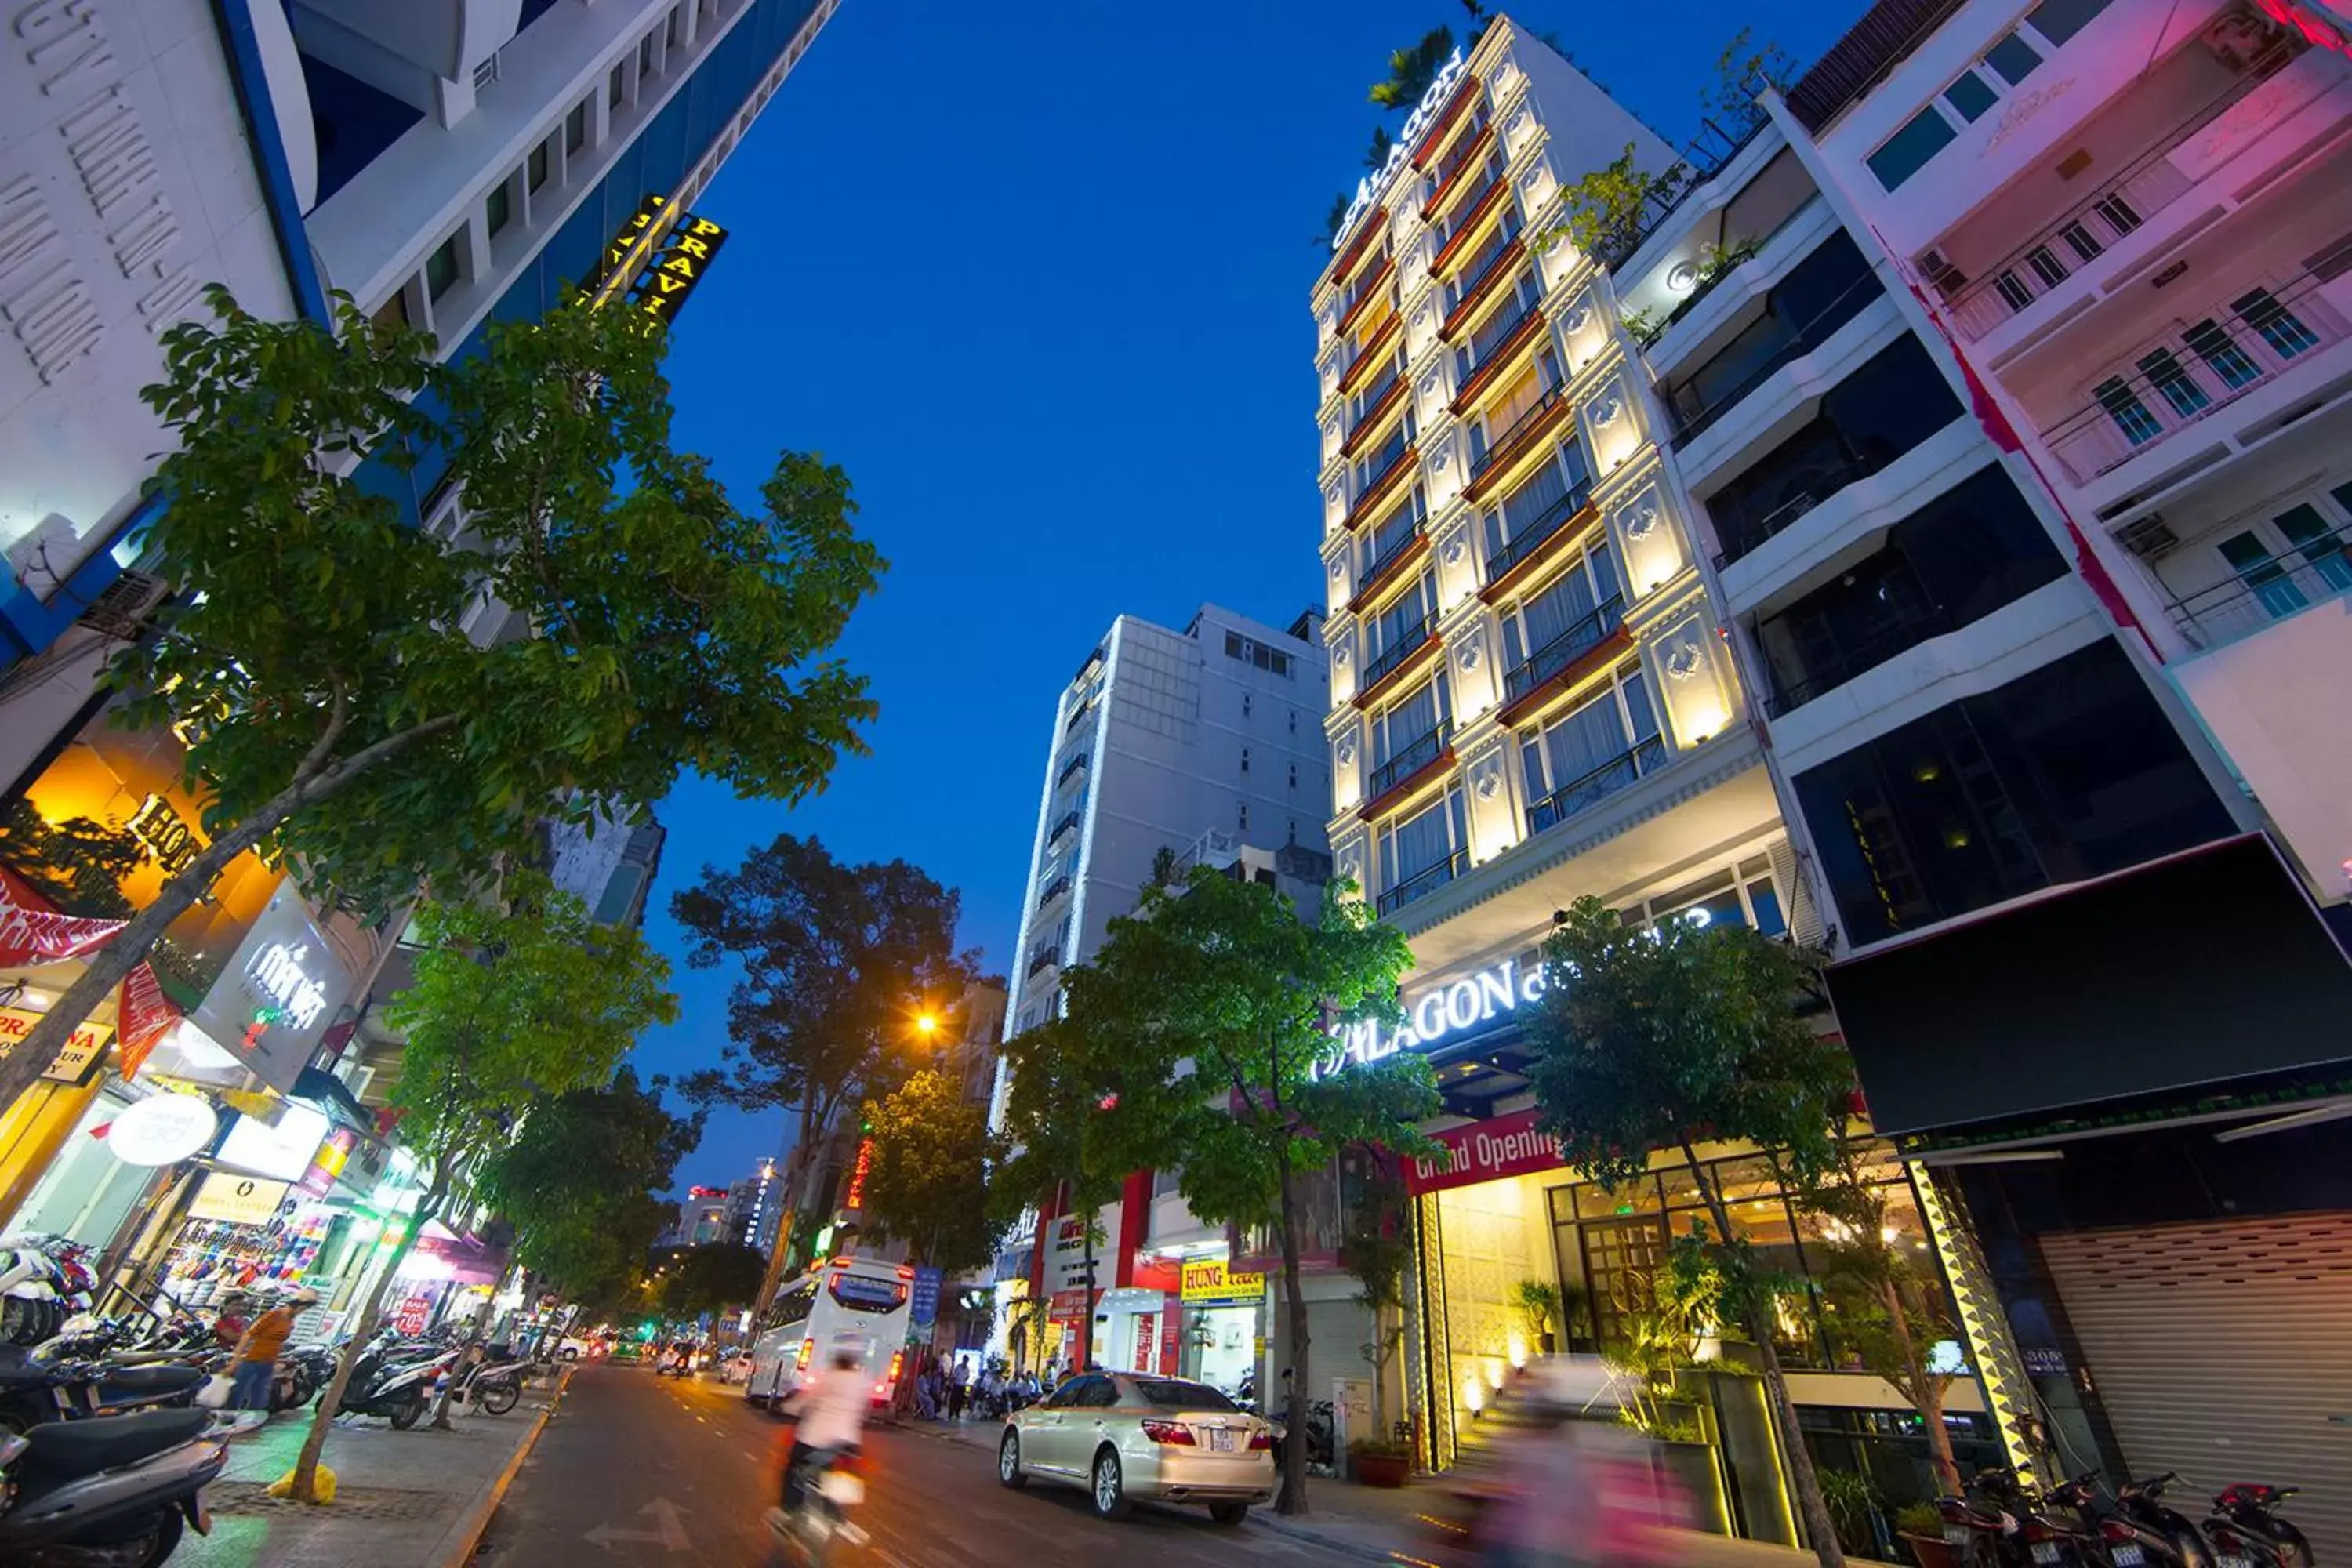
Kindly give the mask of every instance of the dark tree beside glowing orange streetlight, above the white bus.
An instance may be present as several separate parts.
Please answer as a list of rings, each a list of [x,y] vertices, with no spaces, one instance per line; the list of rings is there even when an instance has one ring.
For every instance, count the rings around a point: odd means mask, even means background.
[[[955,889],[906,860],[842,865],[818,839],[790,832],[731,872],[706,865],[670,900],[689,966],[741,964],[727,994],[729,1067],[684,1088],[706,1105],[797,1112],[786,1192],[800,1192],[842,1105],[906,1077],[922,1011],[960,999],[978,976],[978,954],[955,947],[960,910]],[[793,1234],[786,1211],[762,1300]]]

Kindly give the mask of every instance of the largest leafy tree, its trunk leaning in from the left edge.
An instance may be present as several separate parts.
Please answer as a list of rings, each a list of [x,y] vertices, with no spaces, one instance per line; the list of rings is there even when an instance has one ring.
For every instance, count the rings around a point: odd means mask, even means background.
[[[181,592],[108,679],[125,724],[186,736],[212,842],[0,1058],[0,1107],[247,849],[388,910],[520,858],[550,811],[626,816],[689,766],[797,799],[875,712],[826,661],[882,571],[847,475],[786,454],[739,510],[670,447],[642,313],[494,322],[437,364],[348,299],[332,329],[209,301],[146,390],[179,444],[143,543]],[[461,527],[407,524],[358,465],[428,449]],[[475,637],[492,604],[529,635]]]

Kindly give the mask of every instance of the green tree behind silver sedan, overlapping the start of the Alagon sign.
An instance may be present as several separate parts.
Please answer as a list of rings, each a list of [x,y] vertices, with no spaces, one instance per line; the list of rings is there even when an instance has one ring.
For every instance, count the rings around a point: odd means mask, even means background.
[[[1336,886],[1310,924],[1270,886],[1202,865],[1174,893],[1145,889],[1068,978],[1070,1016],[1120,1046],[1117,1164],[1178,1171],[1195,1215],[1270,1229],[1279,1246],[1294,1432],[1312,1387],[1298,1180],[1359,1143],[1425,1150],[1416,1124],[1437,1110],[1416,1056],[1324,1072],[1334,1020],[1399,1016],[1406,964],[1404,936]],[[1303,1514],[1305,1446],[1287,1443],[1284,1458],[1277,1507]]]

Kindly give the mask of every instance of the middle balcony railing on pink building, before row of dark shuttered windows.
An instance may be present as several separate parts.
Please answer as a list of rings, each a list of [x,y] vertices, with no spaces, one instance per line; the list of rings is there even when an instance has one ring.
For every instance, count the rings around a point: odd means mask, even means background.
[[[2147,346],[2091,390],[2091,402],[2042,430],[2077,484],[2112,473],[2291,364],[2338,343],[2340,322],[2303,273],[2277,294],[2253,289],[2164,343]],[[2194,315],[2185,310],[2183,317]]]

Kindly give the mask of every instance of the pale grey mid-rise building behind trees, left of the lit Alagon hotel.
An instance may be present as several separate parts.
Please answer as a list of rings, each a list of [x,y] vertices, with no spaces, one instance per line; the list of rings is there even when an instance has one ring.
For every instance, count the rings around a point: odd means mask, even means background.
[[[1120,616],[1087,651],[1054,705],[1007,1037],[1051,1018],[1063,971],[1094,954],[1145,886],[1183,875],[1188,858],[1230,865],[1249,846],[1268,875],[1277,863],[1284,875],[1329,875],[1319,625],[1315,609],[1275,630],[1202,604],[1183,630]],[[997,1117],[1004,1091],[1000,1074]],[[1223,1232],[1192,1218],[1174,1173],[1150,1171],[1129,1178],[1096,1222],[1110,1244],[1091,1286],[1084,1222],[1047,1213],[1000,1253],[1000,1298],[1044,1298],[1061,1340],[1091,1309],[1094,1356],[1105,1366],[1200,1371],[1178,1359],[1174,1258],[1223,1258]]]

